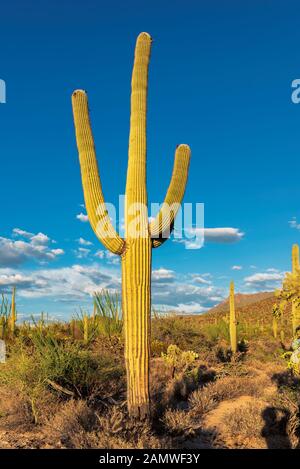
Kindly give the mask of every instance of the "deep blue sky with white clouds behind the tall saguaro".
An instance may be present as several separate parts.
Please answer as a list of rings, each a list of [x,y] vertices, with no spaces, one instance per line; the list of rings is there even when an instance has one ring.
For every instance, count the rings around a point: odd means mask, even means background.
[[[117,259],[77,218],[85,211],[70,96],[88,91],[105,198],[116,203],[141,31],[154,39],[149,200],[163,201],[175,146],[188,143],[185,201],[205,204],[206,228],[234,229],[230,243],[220,230],[199,250],[172,241],[155,250],[154,304],[197,312],[226,296],[230,279],[243,292],[278,286],[300,239],[300,104],[291,101],[299,15],[294,0],[2,5],[0,291],[15,284],[21,312],[62,317],[88,307],[94,289],[120,287]]]

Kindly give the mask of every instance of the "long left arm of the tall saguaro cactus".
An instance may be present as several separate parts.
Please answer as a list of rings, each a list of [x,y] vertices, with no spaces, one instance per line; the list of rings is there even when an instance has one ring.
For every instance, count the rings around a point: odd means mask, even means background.
[[[88,99],[84,91],[74,91],[72,106],[84,200],[90,224],[107,249],[114,254],[122,254],[125,241],[116,233],[105,208],[89,118]]]

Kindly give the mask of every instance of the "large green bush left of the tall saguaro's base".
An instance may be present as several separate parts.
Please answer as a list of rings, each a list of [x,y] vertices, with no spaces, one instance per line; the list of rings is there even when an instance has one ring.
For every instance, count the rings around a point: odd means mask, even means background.
[[[17,341],[0,369],[0,384],[30,403],[35,421],[45,390],[61,397],[102,397],[120,388],[122,368],[110,355],[93,356],[81,344],[36,334],[31,345]]]

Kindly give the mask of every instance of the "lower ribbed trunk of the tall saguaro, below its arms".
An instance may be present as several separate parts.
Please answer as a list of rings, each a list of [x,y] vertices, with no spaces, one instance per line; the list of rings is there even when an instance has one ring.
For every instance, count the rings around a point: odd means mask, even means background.
[[[122,256],[127,402],[130,415],[150,413],[151,240],[133,242]]]

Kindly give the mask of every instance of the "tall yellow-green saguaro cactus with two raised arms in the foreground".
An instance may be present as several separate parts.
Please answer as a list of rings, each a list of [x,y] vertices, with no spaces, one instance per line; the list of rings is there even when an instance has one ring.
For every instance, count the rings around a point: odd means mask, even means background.
[[[89,221],[96,235],[122,260],[122,309],[129,414],[150,413],[149,354],[151,311],[151,255],[170,234],[188,176],[190,148],[179,145],[165,203],[149,224],[146,189],[146,109],[151,37],[141,33],[136,42],[131,81],[129,155],[125,196],[125,239],[115,231],[102,193],[92,136],[87,95],[73,93],[73,113]],[[171,206],[172,210],[168,210]],[[136,216],[138,212],[138,223]],[[133,229],[135,228],[135,229]]]

